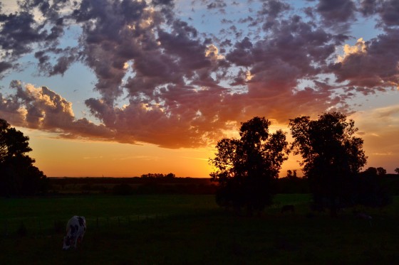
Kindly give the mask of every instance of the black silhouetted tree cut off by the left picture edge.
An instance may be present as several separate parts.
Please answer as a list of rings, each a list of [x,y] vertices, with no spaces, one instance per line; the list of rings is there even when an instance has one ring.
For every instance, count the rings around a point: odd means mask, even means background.
[[[26,155],[32,151],[28,140],[28,136],[0,119],[0,195],[33,195],[46,190],[46,175]]]

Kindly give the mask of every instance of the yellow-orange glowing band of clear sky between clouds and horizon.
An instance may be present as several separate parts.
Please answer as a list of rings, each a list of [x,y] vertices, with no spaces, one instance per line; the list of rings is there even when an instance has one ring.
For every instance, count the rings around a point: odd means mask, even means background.
[[[359,118],[359,117],[355,117]],[[369,117],[367,117],[369,118]],[[355,125],[358,123],[355,121]],[[362,126],[368,126],[363,121]],[[287,128],[281,126],[284,131]],[[209,148],[160,148],[152,144],[120,144],[115,142],[81,141],[58,139],[33,129],[20,129],[30,137],[29,144],[33,151],[29,156],[36,159],[37,166],[48,177],[139,177],[147,173],[173,173],[177,177],[210,178],[212,166],[209,158],[214,157],[214,147]],[[271,132],[279,129],[272,125]],[[230,137],[234,137],[231,133]],[[368,167],[383,167],[387,173],[395,173],[395,153],[378,153],[381,141],[389,141],[375,133],[360,135],[364,140],[363,148],[368,156]],[[287,141],[291,142],[290,135]],[[286,171],[297,171],[302,176],[300,156],[289,155],[283,163],[279,177],[286,176]]]

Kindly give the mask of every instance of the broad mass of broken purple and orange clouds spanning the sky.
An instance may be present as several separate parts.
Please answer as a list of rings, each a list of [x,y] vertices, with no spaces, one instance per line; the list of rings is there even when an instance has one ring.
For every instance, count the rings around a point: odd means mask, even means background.
[[[45,76],[84,63],[100,96],[83,100],[100,123],[77,119],[71,102],[47,87],[16,81],[0,95],[1,115],[67,138],[195,147],[254,115],[286,123],[351,112],[347,100],[357,93],[398,86],[398,1],[306,3],[191,1],[203,16],[218,13],[218,35],[172,0],[19,1],[13,13],[0,10],[0,79],[24,55]],[[360,16],[377,19],[380,35],[349,45]],[[66,45],[72,29],[78,44]],[[119,107],[121,100],[128,103]]]

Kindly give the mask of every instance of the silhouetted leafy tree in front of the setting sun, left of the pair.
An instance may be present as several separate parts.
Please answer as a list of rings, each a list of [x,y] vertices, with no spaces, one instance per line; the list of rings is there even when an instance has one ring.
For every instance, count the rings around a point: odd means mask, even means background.
[[[271,204],[274,180],[289,150],[283,131],[269,134],[269,126],[269,120],[254,117],[242,123],[240,139],[217,143],[215,158],[209,162],[215,168],[212,180],[219,183],[218,205],[252,215]]]

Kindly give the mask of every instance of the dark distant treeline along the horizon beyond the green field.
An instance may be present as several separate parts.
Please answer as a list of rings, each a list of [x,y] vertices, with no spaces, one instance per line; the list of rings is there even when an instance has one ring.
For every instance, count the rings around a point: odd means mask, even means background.
[[[147,174],[133,178],[48,178],[51,193],[110,193],[127,194],[214,194],[217,183],[210,178],[177,178],[170,174]],[[167,177],[165,177],[167,176]],[[399,175],[379,176],[380,184],[391,195],[399,195]],[[276,193],[310,193],[306,178],[279,178]]]

